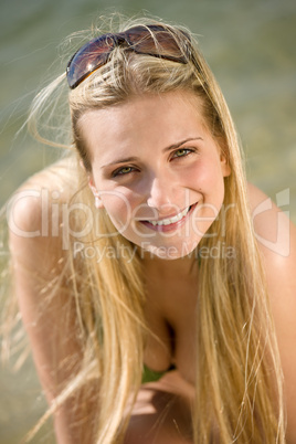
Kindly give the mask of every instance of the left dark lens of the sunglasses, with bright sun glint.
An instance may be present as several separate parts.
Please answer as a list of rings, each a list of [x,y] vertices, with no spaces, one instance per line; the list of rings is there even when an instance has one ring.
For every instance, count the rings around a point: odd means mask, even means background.
[[[102,35],[83,45],[71,59],[67,65],[67,83],[75,88],[97,67],[104,65],[114,47],[114,40]]]

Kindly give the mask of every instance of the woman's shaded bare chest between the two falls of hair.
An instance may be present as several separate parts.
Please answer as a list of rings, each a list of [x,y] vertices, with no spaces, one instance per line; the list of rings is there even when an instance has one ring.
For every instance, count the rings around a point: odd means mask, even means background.
[[[147,284],[145,363],[166,371],[175,364],[190,382],[195,374],[198,285],[192,278],[171,277]]]

